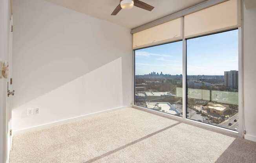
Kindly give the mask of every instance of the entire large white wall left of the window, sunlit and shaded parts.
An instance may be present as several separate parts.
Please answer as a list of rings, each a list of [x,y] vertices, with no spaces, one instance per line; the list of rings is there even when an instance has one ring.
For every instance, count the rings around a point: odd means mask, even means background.
[[[44,0],[13,0],[13,25],[13,130],[130,105],[130,29]]]

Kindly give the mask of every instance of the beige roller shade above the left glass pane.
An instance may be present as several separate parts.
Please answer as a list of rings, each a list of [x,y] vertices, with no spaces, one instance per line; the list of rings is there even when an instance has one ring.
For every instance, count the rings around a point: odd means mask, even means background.
[[[182,39],[182,18],[133,34],[133,49]]]

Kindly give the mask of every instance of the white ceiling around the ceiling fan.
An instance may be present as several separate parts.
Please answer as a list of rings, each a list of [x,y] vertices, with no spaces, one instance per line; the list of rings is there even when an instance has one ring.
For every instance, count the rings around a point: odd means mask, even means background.
[[[130,29],[152,22],[168,14],[199,4],[205,0],[141,0],[155,8],[150,12],[138,7],[122,9],[116,16],[110,15],[120,0],[46,0]]]

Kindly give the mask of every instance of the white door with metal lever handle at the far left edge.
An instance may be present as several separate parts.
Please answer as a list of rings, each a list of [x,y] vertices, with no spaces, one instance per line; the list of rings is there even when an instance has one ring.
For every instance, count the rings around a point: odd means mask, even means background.
[[[0,22],[0,163],[6,163],[9,158],[9,150],[11,150],[11,97],[8,97],[7,91],[12,71],[12,18],[10,0],[0,0]],[[9,71],[6,71],[8,63]],[[9,72],[9,75],[7,72]],[[11,87],[9,90],[11,90]]]

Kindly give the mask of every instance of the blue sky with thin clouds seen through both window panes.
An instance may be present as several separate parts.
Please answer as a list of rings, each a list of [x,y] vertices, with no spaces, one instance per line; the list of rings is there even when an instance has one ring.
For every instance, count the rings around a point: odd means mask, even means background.
[[[135,74],[182,74],[182,42],[135,51]],[[224,75],[238,70],[238,30],[187,40],[188,75]]]

